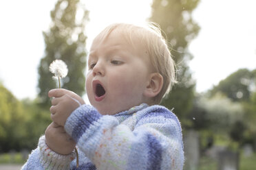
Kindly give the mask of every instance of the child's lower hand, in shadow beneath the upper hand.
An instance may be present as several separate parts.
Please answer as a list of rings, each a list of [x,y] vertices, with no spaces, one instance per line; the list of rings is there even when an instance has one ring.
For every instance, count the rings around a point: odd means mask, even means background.
[[[52,122],[45,130],[45,143],[58,154],[71,154],[76,147],[75,141],[68,135],[63,126]]]

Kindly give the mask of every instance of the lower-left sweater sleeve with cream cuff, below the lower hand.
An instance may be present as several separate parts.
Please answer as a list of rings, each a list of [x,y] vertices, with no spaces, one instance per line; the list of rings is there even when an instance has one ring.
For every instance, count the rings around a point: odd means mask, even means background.
[[[61,155],[52,151],[45,143],[45,136],[41,136],[38,147],[32,151],[22,169],[70,169],[70,162],[75,157],[74,151],[69,155]]]

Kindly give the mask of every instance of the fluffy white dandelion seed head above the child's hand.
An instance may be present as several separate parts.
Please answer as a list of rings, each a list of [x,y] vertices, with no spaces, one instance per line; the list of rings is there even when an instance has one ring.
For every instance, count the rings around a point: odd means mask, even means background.
[[[49,66],[50,72],[54,73],[54,78],[67,76],[67,64],[63,60],[54,60]]]

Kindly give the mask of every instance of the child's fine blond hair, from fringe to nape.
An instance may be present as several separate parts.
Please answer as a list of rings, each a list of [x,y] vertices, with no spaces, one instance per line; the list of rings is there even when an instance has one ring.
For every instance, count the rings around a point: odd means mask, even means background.
[[[150,62],[156,73],[163,77],[163,86],[160,93],[153,98],[154,104],[159,104],[162,98],[169,93],[175,79],[175,63],[171,57],[167,40],[161,34],[161,29],[156,23],[147,23],[147,25],[133,25],[129,23],[114,23],[103,29],[97,37],[105,40],[114,30],[120,30],[131,45],[134,46],[134,38],[140,40],[142,45],[149,51]]]

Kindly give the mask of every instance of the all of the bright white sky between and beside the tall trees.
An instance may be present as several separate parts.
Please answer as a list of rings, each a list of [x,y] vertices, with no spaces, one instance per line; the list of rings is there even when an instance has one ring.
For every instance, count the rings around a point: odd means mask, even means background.
[[[42,31],[55,1],[10,0],[0,5],[0,81],[19,99],[36,96],[37,67],[44,56]],[[85,0],[89,10],[87,49],[103,27],[144,22],[151,0]],[[191,42],[190,62],[199,92],[239,68],[256,69],[256,1],[201,0],[193,18],[201,27]]]

